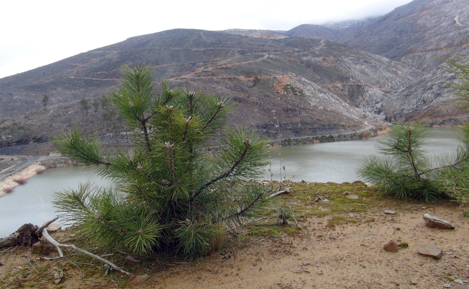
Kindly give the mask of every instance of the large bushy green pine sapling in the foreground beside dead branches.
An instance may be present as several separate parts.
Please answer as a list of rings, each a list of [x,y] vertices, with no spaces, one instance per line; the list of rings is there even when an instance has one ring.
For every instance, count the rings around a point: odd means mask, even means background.
[[[123,66],[122,75],[108,98],[132,135],[129,151],[106,151],[78,128],[53,138],[65,156],[99,165],[115,188],[82,184],[56,193],[55,207],[96,242],[138,255],[176,250],[200,258],[218,250],[226,227],[262,215],[267,189],[251,180],[266,164],[268,140],[225,128],[232,106],[223,97],[166,82],[157,94],[148,67]]]

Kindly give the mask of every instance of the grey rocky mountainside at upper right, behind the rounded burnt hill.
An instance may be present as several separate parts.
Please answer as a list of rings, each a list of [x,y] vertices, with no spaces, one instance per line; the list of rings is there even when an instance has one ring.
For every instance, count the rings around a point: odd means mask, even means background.
[[[469,35],[467,0],[414,0],[392,12],[363,21],[302,25],[288,31],[302,37],[331,39],[372,54],[401,62],[421,71],[422,78],[389,95],[395,117],[426,119],[433,123],[457,123],[461,111],[447,83],[452,74],[441,67],[450,51],[461,53]],[[379,97],[379,96],[377,96]],[[373,97],[371,97],[373,99]]]

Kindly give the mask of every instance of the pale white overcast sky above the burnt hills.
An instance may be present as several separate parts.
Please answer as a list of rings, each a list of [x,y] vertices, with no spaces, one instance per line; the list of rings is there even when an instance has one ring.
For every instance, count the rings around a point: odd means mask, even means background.
[[[0,78],[174,28],[289,30],[384,15],[411,0],[10,0],[0,5]]]

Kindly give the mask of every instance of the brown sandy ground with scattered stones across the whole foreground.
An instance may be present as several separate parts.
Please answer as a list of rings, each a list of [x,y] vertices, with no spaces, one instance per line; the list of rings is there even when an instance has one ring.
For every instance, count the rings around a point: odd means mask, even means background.
[[[301,202],[302,210],[325,210],[321,203],[308,199]],[[243,229],[241,234],[228,236],[220,252],[199,262],[161,256],[146,258],[139,266],[126,266],[135,275],[149,275],[150,279],[138,287],[130,285],[133,277],[116,272],[106,275],[102,264],[92,259],[78,263],[70,250],[66,252],[68,259],[47,260],[28,248],[0,249],[3,264],[0,288],[15,288],[19,283],[14,278],[25,287],[73,289],[116,288],[116,285],[145,289],[436,289],[444,285],[453,288],[458,285],[455,280],[469,279],[469,224],[457,204],[404,203],[392,199],[366,202],[367,210],[354,213],[353,218],[345,212],[341,214],[345,221],[355,220],[354,223],[331,226],[328,223],[331,215],[305,215],[299,222],[301,229],[297,230],[293,222],[288,231],[284,228],[276,235],[252,235]],[[385,214],[384,210],[396,213]],[[425,227],[424,213],[450,221],[455,229]],[[64,243],[76,242],[71,233],[60,231],[55,238]],[[407,242],[409,246],[397,253],[383,250],[383,244],[391,239]],[[443,257],[438,260],[417,253],[417,247],[426,244],[441,247]],[[109,258],[122,265],[126,254],[116,261],[119,252],[112,253],[114,256]],[[48,257],[56,254],[52,249]],[[70,260],[76,263],[72,265]],[[57,268],[67,274],[60,285],[53,283],[53,274],[60,273]],[[31,277],[38,276],[35,270],[43,274],[41,278]],[[28,278],[33,281],[28,283]]]

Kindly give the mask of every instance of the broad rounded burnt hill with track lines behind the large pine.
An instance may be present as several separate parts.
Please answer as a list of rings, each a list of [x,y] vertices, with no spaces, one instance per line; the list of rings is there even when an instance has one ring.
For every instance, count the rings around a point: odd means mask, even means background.
[[[377,117],[389,93],[418,76],[384,57],[319,39],[163,31],[0,79],[3,146],[34,141],[31,135],[43,141],[74,124],[104,133],[102,109],[84,111],[77,101],[115,89],[122,64],[151,65],[157,81],[225,95],[236,102],[233,125],[274,138],[357,130]]]

